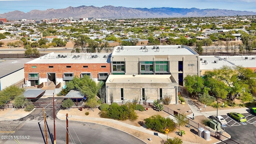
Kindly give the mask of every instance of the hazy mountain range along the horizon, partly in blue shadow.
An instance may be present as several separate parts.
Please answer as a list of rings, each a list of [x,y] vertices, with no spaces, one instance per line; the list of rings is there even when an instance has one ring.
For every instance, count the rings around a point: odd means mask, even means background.
[[[45,19],[45,18],[170,18],[170,17],[204,17],[204,16],[244,16],[256,15],[256,12],[198,9],[198,8],[126,8],[123,6],[78,6],[63,9],[31,10],[21,12],[18,10],[0,14],[1,18],[8,20]]]

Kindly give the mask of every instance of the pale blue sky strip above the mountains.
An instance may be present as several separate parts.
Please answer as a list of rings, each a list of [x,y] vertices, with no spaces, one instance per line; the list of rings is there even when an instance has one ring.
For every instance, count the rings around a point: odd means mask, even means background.
[[[125,6],[129,8],[218,8],[256,12],[256,0],[0,0],[0,14],[68,6]]]

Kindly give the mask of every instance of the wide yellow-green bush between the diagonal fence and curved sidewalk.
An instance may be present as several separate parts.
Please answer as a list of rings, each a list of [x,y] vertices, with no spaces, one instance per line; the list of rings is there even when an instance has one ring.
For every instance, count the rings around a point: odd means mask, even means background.
[[[173,131],[175,129],[175,122],[170,118],[164,118],[162,116],[153,115],[149,118],[145,118],[145,125],[147,128],[150,128],[152,130],[156,130],[158,132],[165,132],[165,128],[168,128],[170,131]]]

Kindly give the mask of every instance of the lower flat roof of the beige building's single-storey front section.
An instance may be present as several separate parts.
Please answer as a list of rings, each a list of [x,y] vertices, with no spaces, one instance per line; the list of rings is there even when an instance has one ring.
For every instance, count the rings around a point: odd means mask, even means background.
[[[108,83],[177,83],[171,74],[164,75],[115,75],[110,74]]]

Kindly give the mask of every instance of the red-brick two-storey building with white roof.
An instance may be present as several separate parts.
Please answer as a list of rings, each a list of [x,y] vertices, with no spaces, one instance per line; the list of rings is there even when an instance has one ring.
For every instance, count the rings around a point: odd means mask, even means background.
[[[24,64],[28,86],[50,84],[64,86],[74,76],[90,76],[93,80],[106,80],[110,73],[110,53],[50,53]]]

